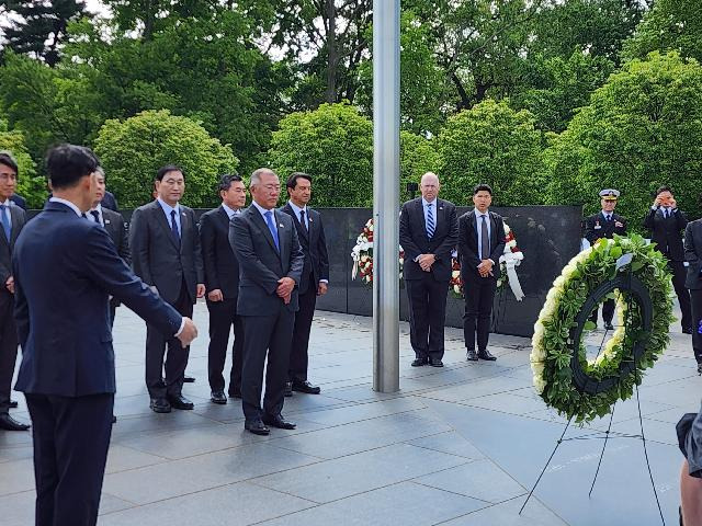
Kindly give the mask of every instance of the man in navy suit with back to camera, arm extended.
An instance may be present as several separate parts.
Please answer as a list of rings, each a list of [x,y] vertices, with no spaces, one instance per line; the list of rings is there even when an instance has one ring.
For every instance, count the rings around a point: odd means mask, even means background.
[[[15,389],[32,416],[37,525],[97,524],[115,391],[107,296],[183,344],[197,333],[124,264],[107,232],[84,219],[97,167],[87,148],[48,152],[54,197],[12,254],[23,350]]]

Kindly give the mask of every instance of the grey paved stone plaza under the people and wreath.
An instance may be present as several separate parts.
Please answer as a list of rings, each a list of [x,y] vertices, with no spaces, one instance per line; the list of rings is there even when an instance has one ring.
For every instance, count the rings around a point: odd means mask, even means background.
[[[206,309],[191,350],[184,393],[194,411],[155,414],[144,385],[143,322],[117,311],[117,397],[100,525],[656,525],[660,524],[642,442],[610,441],[592,496],[601,439],[564,442],[524,513],[517,512],[564,428],[531,387],[529,340],[496,335],[496,363],[465,362],[462,331],[446,332],[446,367],[412,368],[401,330],[401,391],[371,390],[369,318],[317,312],[310,380],[284,414],[297,430],[268,437],[244,431],[240,402],[210,402]],[[697,411],[702,379],[690,336],[645,378],[641,408],[666,523],[677,524],[681,455],[675,423]],[[227,364],[228,367],[228,364]],[[29,420],[24,400],[12,414]],[[609,419],[567,436],[607,428]],[[639,432],[635,400],[613,428]],[[0,524],[33,524],[29,433],[0,432]]]

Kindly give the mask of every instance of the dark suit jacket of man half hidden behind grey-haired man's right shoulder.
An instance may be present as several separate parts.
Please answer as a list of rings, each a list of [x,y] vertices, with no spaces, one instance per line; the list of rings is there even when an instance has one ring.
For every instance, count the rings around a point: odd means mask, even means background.
[[[225,299],[239,296],[239,262],[229,244],[229,216],[218,206],[200,217],[200,243],[207,291],[222,290]]]

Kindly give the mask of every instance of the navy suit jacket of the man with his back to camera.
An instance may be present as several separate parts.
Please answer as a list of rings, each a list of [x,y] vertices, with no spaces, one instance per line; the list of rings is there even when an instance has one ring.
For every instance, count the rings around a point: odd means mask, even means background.
[[[22,364],[15,389],[81,397],[114,392],[107,296],[165,334],[182,317],[124,263],[110,236],[60,203],[27,222],[12,254]]]

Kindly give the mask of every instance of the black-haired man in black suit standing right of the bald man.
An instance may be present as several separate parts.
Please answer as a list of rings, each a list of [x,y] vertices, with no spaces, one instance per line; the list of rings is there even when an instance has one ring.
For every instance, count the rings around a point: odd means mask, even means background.
[[[500,255],[505,251],[505,224],[501,216],[489,210],[492,188],[487,184],[473,188],[473,203],[475,208],[458,219],[458,258],[465,294],[463,335],[468,361],[494,362],[497,358],[488,351],[487,343],[500,277]]]

